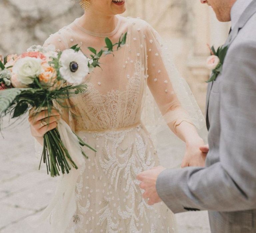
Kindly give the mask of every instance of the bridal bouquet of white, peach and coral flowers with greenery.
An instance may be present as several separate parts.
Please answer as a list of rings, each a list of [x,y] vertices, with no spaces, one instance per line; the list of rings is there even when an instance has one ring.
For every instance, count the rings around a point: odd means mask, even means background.
[[[8,55],[4,59],[0,56],[0,119],[6,115],[12,118],[22,116],[31,108],[35,109],[35,114],[43,109],[51,112],[54,103],[64,107],[63,103],[69,96],[86,91],[87,86],[82,84],[85,77],[100,67],[99,59],[103,54],[113,54],[115,46],[118,50],[126,43],[126,34],[118,43],[113,44],[109,38],[105,42],[106,47],[99,52],[89,47],[90,57],[86,57],[77,45],[58,53],[53,45],[47,48],[34,45],[20,56]],[[47,125],[45,121],[41,123]],[[60,170],[62,174],[69,173],[71,166],[78,169],[59,131],[62,130],[55,128],[44,135],[40,161],[40,165],[42,160],[46,163],[47,173],[50,172],[52,177],[60,175]],[[84,157],[87,158],[82,146],[96,151],[70,128],[65,132],[69,134],[67,138],[76,142],[74,146],[79,146]]]

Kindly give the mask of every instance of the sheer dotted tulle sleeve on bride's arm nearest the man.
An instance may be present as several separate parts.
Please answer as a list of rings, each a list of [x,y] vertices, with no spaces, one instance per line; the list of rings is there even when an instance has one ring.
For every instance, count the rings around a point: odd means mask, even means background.
[[[187,83],[172,63],[170,54],[165,54],[168,49],[151,26],[147,25],[145,31],[147,84],[165,122],[173,131],[182,121],[200,127],[200,120],[203,119],[199,116],[201,111]]]

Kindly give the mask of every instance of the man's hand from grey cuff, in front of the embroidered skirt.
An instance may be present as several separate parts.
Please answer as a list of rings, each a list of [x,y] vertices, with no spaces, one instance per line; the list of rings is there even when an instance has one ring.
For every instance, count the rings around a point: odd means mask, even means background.
[[[166,168],[162,166],[153,167],[150,170],[143,171],[137,175],[137,179],[141,181],[140,188],[145,192],[142,194],[143,198],[148,199],[149,205],[154,205],[161,201],[156,190],[156,180],[158,175]]]

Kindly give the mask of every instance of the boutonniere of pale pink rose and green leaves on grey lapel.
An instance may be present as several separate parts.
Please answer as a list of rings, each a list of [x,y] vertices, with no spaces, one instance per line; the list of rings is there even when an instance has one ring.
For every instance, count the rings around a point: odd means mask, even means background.
[[[214,46],[210,48],[210,46],[208,45],[208,47],[210,49],[211,56],[207,58],[206,66],[209,70],[212,71],[212,74],[210,79],[206,81],[206,83],[213,82],[221,73],[223,62],[228,51],[228,46],[219,47],[217,49],[217,52],[214,49]]]

